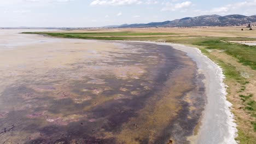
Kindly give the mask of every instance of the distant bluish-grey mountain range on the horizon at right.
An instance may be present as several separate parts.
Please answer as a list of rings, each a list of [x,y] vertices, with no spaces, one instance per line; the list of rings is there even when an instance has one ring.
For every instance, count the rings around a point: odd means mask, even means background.
[[[135,23],[131,25],[106,26],[106,27],[196,27],[196,26],[236,26],[256,22],[256,15],[202,15],[196,17],[185,17],[173,21]]]

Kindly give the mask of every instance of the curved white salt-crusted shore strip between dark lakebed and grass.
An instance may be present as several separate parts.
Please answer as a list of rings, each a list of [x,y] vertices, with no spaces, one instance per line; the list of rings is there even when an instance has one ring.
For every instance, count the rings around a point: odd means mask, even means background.
[[[236,123],[234,114],[230,110],[232,104],[226,99],[223,69],[203,55],[196,47],[152,41],[140,42],[169,45],[174,49],[186,52],[196,62],[199,72],[205,75],[207,104],[202,113],[199,133],[191,138],[191,143],[237,143],[235,140],[237,136]],[[216,97],[217,95],[219,97]]]

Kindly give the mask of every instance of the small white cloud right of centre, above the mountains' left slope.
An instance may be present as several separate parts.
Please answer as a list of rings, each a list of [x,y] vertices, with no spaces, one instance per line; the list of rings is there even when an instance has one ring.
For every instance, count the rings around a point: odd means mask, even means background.
[[[187,9],[189,7],[191,7],[192,2],[187,1],[187,2],[182,2],[182,3],[165,3],[166,7],[162,8],[162,11],[176,11],[176,10],[180,10],[180,9]]]

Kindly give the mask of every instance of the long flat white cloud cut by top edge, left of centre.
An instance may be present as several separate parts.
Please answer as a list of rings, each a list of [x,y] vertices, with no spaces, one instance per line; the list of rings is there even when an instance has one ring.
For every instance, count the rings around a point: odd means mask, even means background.
[[[139,0],[95,0],[90,5],[131,5],[141,3]]]

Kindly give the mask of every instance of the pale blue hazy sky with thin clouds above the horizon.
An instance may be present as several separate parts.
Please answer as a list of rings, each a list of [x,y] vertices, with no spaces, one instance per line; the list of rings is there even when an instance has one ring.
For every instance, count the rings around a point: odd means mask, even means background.
[[[0,0],[0,27],[97,27],[208,14],[256,15],[256,0]]]

